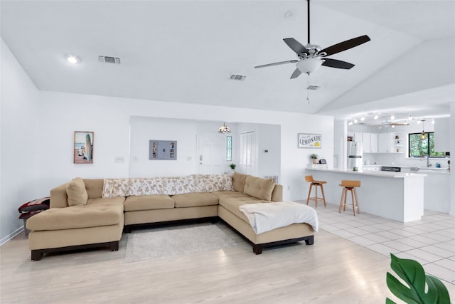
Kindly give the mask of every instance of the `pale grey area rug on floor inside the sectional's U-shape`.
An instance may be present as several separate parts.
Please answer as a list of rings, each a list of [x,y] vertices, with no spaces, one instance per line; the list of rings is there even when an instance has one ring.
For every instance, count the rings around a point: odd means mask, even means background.
[[[129,234],[125,261],[170,258],[235,245],[216,225]]]

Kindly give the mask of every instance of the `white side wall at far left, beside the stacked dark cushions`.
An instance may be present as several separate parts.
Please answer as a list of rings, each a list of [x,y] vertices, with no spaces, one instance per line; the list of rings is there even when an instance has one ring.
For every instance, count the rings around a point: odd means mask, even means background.
[[[48,192],[40,192],[36,180],[38,152],[50,137],[37,132],[38,90],[1,39],[1,154],[0,244],[21,231],[18,206]],[[41,140],[39,139],[41,138]]]

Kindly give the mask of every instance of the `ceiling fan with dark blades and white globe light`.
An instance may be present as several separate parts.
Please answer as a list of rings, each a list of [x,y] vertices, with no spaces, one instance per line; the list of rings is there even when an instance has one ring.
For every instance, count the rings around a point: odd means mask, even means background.
[[[367,35],[359,36],[356,38],[352,38],[341,43],[336,43],[333,46],[329,46],[328,48],[321,49],[321,46],[317,46],[316,44],[310,43],[310,0],[306,0],[308,3],[308,44],[303,46],[299,41],[296,41],[294,38],[284,38],[284,42],[292,49],[292,51],[296,52],[297,60],[291,61],[280,61],[277,63],[268,63],[264,65],[257,65],[255,68],[265,68],[272,65],[282,65],[287,63],[296,63],[296,69],[294,73],[291,75],[291,79],[299,77],[301,73],[313,73],[315,70],[319,68],[319,66],[324,65],[328,66],[329,68],[343,68],[349,70],[353,68],[352,63],[348,63],[346,61],[339,61],[337,59],[327,58],[326,56],[331,56],[336,53],[340,53],[342,51],[346,51],[350,48],[354,48],[355,46],[360,46],[365,42],[370,41],[370,37]]]

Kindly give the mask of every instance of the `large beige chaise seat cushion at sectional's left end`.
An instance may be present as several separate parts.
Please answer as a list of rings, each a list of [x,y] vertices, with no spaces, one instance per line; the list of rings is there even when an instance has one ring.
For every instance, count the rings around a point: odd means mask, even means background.
[[[124,198],[110,198],[109,202],[50,208],[27,220],[27,229],[62,230],[110,226],[123,222]]]

